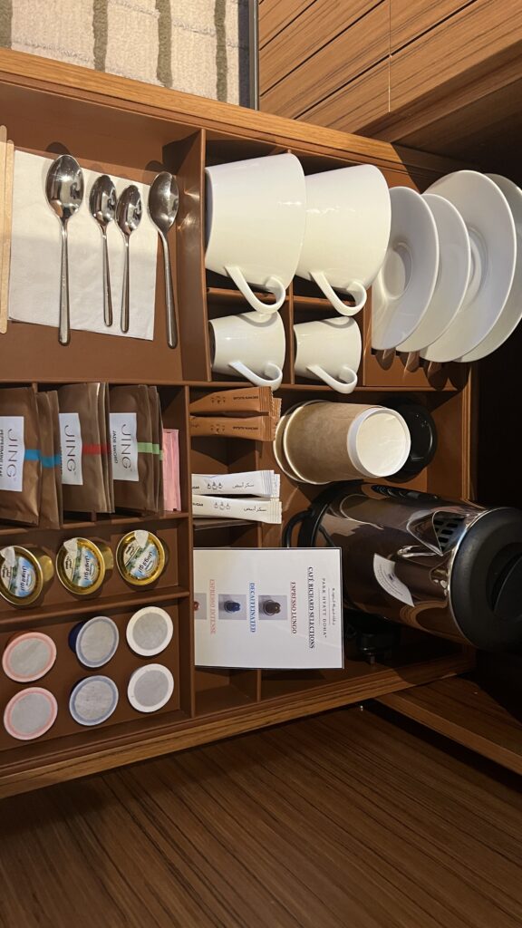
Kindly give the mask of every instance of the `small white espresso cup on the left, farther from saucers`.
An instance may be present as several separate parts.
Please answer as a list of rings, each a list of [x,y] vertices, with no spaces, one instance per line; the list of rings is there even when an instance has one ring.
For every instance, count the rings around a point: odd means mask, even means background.
[[[215,373],[240,374],[256,387],[281,386],[285,338],[279,313],[241,313],[209,325]]]

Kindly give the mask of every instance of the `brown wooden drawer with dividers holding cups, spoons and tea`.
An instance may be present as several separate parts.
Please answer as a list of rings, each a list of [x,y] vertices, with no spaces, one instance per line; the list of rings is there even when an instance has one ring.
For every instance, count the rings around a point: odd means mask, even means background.
[[[401,154],[392,146],[371,139],[6,50],[0,50],[0,105],[3,122],[7,123],[9,136],[17,148],[34,152],[68,149],[85,165],[130,179],[150,179],[162,167],[176,173],[180,209],[170,244],[178,301],[178,348],[172,351],[166,345],[160,254],[152,342],[133,339],[115,342],[104,334],[73,331],[71,345],[63,348],[54,328],[9,324],[7,335],[0,336],[0,382],[34,383],[35,389],[83,380],[158,385],[164,424],[179,430],[182,496],[181,512],[150,519],[132,513],[98,518],[70,513],[64,529],[54,533],[0,526],[3,544],[41,544],[52,554],[65,537],[101,537],[114,548],[119,537],[131,528],[148,526],[164,538],[171,554],[163,577],[145,590],[128,587],[115,572],[93,599],[75,599],[55,580],[39,608],[16,610],[0,601],[0,649],[18,629],[52,629],[59,640],[60,663],[48,675],[49,689],[55,680],[53,673],[59,675],[56,686],[61,687],[59,728],[26,744],[12,739],[7,743],[7,736],[1,736],[4,740],[0,751],[0,795],[228,737],[470,668],[474,663],[470,649],[455,648],[427,636],[410,641],[392,654],[389,662],[377,667],[370,667],[348,651],[342,672],[262,674],[255,669],[209,670],[194,666],[194,546],[277,548],[281,545],[281,526],[198,520],[191,513],[192,471],[279,470],[269,444],[191,439],[189,434],[190,397],[241,382],[212,377],[208,321],[250,308],[228,279],[205,272],[205,164],[291,150],[301,159],[307,173],[372,162],[385,172],[390,185],[404,184],[418,189],[429,186],[440,174],[454,170],[455,165],[421,152]],[[284,408],[307,398],[344,401],[320,383],[295,382],[294,378],[294,320],[330,313],[333,315],[333,309],[317,290],[294,279],[281,310],[287,339],[280,392]],[[473,393],[467,368],[459,367],[458,377],[443,372],[438,380],[430,380],[424,368],[405,371],[401,358],[394,357],[391,364],[387,361],[385,364],[383,359],[375,359],[370,348],[370,305],[359,314],[357,322],[362,327],[365,348],[359,386],[348,402],[385,405],[388,393],[414,395],[431,409],[439,430],[439,445],[432,464],[407,485],[448,496],[471,495]],[[317,492],[317,487],[294,483],[282,476],[284,521],[306,508]],[[174,702],[148,717],[132,714],[122,699],[118,709],[122,715],[115,714],[93,730],[78,730],[79,726],[72,730],[64,709],[67,691],[76,679],[90,672],[78,665],[69,650],[68,630],[78,621],[101,612],[116,617],[123,627],[132,612],[148,603],[164,605],[176,616],[176,642],[169,656],[173,672],[176,668]],[[141,663],[137,655],[127,654],[125,649],[126,644],[113,659],[122,692],[129,673]],[[162,663],[160,655],[158,663]],[[46,682],[47,677],[42,681],[44,686]],[[15,689],[17,686],[12,684]],[[4,679],[0,686],[0,713],[12,692],[10,687]]]

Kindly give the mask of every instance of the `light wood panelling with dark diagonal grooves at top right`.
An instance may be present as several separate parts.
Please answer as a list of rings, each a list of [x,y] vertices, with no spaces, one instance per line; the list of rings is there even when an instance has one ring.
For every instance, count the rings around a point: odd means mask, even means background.
[[[431,99],[520,78],[522,0],[260,0],[259,35],[262,110],[395,140]]]

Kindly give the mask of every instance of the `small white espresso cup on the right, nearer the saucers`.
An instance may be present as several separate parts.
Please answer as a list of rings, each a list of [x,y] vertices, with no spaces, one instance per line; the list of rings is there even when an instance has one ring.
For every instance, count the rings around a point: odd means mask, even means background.
[[[300,322],[294,335],[294,371],[299,377],[323,380],[337,393],[355,390],[362,342],[354,319],[334,316]]]

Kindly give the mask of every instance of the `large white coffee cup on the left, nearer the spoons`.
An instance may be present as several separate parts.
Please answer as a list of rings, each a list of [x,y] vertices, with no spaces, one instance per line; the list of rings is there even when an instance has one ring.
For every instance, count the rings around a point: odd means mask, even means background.
[[[258,313],[281,309],[305,235],[306,188],[290,153],[205,168],[205,267],[234,281]],[[262,303],[252,286],[268,290]]]

